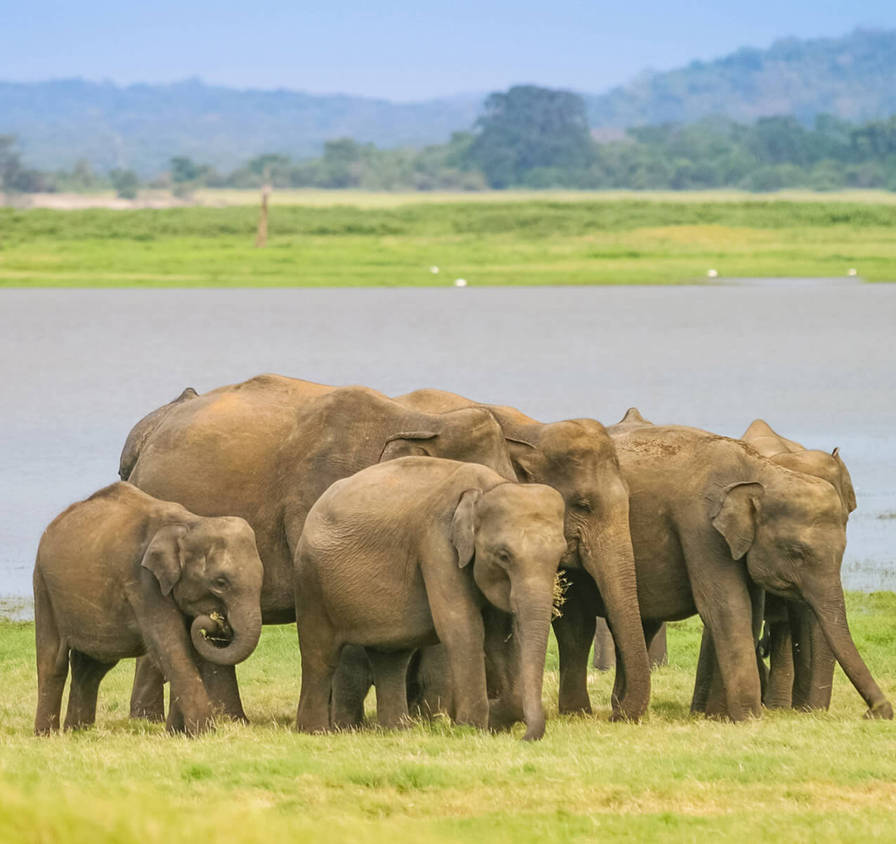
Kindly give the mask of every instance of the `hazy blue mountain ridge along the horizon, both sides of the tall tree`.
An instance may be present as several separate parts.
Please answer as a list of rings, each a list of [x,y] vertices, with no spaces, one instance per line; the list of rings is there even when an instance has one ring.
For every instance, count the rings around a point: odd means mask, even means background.
[[[641,126],[721,115],[740,121],[831,113],[853,121],[896,113],[896,31],[856,30],[840,39],[782,39],[710,62],[643,74],[604,94],[582,95],[590,125]],[[349,95],[237,90],[198,80],[167,85],[63,80],[0,83],[0,134],[19,138],[43,170],[79,158],[97,170],[148,176],[186,155],[232,170],[264,152],[317,155],[349,136],[380,147],[444,143],[469,129],[480,94],[395,103]]]

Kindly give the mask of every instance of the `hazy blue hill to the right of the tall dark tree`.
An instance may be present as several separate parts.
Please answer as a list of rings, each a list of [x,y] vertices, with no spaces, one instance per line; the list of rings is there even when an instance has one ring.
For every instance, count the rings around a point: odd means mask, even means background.
[[[839,39],[783,39],[711,62],[692,62],[585,97],[591,126],[740,121],[832,114],[863,122],[896,113],[896,30],[856,30]]]

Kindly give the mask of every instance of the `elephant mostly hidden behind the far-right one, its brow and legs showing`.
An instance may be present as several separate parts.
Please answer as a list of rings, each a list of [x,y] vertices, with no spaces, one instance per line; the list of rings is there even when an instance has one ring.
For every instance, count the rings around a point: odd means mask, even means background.
[[[779,466],[830,483],[840,496],[844,523],[856,509],[856,492],[839,449],[831,454],[807,449],[781,437],[762,419],[754,420],[741,439]],[[769,633],[771,668],[762,702],[772,709],[828,709],[836,659],[814,613],[806,604],[769,595],[765,597],[763,615]],[[711,637],[704,632],[691,709],[719,716],[725,714],[724,691],[718,682],[713,683],[711,648]]]

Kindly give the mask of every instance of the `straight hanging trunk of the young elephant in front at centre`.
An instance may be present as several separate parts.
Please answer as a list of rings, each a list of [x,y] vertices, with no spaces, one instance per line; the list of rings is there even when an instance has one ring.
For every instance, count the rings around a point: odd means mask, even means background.
[[[541,699],[551,627],[553,579],[545,587],[527,588],[511,596],[516,638],[519,642],[522,713],[526,719],[523,741],[534,742],[545,735],[545,708]]]

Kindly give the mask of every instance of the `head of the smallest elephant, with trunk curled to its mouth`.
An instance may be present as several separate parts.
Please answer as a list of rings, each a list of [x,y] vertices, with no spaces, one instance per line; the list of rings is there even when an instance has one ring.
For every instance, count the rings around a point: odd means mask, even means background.
[[[262,632],[263,566],[252,528],[242,518],[202,518],[159,528],[142,566],[193,622],[190,638],[203,659],[234,666]]]

